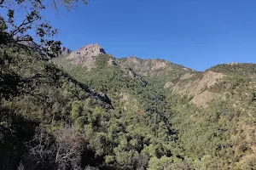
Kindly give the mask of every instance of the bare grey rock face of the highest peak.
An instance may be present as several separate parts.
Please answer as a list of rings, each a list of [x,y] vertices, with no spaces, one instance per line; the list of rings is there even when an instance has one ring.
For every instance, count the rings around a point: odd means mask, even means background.
[[[96,56],[106,54],[105,50],[99,44],[86,45],[77,51],[71,52],[67,59],[70,59],[73,65],[83,65],[87,68],[95,67]]]

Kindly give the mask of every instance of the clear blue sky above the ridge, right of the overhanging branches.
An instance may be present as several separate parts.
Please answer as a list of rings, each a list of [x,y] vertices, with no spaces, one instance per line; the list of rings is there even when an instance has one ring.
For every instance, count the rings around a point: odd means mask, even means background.
[[[167,59],[197,71],[256,63],[255,0],[90,0],[48,17],[73,50],[99,43],[117,58]]]

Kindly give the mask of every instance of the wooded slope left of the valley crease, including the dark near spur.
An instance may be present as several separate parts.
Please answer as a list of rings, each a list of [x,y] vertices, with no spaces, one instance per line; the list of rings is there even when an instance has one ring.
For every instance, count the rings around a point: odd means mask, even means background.
[[[3,169],[155,169],[159,158],[187,166],[163,91],[109,65],[112,56],[97,56],[90,71],[65,67],[71,77],[30,49],[0,52]]]

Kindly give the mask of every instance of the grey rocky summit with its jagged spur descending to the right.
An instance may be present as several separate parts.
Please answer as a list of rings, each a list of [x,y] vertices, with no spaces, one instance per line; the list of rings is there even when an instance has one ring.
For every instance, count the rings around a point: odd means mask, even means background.
[[[119,65],[117,59],[112,55],[106,54],[105,50],[98,44],[90,44],[79,48],[77,51],[73,51],[70,54],[64,55],[59,59],[55,59],[56,63],[63,66],[67,70],[73,70],[76,65],[86,70],[90,74],[90,70],[101,71],[105,68],[115,68],[121,72],[123,77],[131,77],[136,82],[140,82],[143,86],[147,85],[147,82],[133,71],[131,67],[127,65]]]

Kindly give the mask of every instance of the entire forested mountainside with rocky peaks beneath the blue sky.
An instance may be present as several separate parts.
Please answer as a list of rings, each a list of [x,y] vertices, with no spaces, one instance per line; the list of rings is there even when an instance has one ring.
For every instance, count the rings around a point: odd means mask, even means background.
[[[255,169],[256,65],[0,45],[1,169]]]

